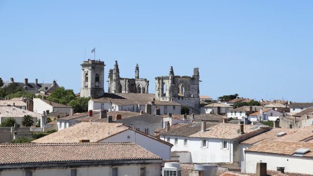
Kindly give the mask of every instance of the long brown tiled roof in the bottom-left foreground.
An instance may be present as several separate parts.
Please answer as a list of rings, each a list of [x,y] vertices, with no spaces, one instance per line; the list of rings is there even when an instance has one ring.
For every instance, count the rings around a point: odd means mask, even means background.
[[[0,150],[0,164],[161,159],[133,142],[0,144]]]

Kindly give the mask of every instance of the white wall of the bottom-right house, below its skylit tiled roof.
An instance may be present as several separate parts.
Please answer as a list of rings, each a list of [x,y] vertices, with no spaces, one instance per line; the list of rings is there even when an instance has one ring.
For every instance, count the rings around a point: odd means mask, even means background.
[[[267,170],[276,170],[276,167],[285,167],[285,172],[312,174],[313,158],[264,154],[255,152],[246,152],[246,173],[255,173],[256,163],[262,160],[267,163]]]

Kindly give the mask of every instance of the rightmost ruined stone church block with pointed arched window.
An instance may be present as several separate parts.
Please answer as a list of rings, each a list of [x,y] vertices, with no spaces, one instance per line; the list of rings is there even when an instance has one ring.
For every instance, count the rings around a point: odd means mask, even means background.
[[[174,101],[193,108],[194,113],[200,109],[199,68],[194,68],[190,76],[175,76],[173,66],[169,76],[156,77],[156,101]]]

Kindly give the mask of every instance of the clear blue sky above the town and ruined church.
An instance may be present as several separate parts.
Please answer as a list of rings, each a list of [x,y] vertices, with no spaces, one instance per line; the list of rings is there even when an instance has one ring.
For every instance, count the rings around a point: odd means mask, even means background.
[[[200,94],[312,102],[312,0],[0,0],[0,77],[78,93],[81,61],[120,76],[189,75]],[[108,84],[105,82],[105,91]]]

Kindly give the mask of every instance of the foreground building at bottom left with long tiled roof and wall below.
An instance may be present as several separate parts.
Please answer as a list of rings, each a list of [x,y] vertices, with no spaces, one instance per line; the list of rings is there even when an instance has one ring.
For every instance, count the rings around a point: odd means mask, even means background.
[[[0,144],[0,150],[3,176],[160,176],[162,165],[134,142]]]

